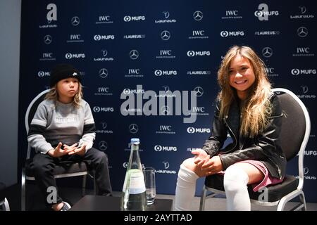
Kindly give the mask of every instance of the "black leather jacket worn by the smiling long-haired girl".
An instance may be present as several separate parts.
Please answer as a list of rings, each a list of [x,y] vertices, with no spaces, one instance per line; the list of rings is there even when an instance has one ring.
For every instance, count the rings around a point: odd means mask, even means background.
[[[218,117],[220,103],[216,103],[212,133],[205,141],[203,149],[211,156],[220,156],[223,170],[235,162],[259,160],[266,165],[270,174],[275,178],[282,179],[285,176],[286,158],[280,147],[280,127],[283,114],[278,96],[272,94],[271,103],[273,103],[273,113],[268,126],[261,134],[253,138],[240,136],[240,108],[237,101],[232,103],[224,120],[220,120]],[[221,149],[228,132],[233,142]]]

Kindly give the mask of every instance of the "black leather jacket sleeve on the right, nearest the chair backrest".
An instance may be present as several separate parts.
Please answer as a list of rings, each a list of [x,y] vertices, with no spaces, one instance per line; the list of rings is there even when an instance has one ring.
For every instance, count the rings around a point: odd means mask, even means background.
[[[273,103],[273,112],[269,117],[268,125],[261,134],[254,138],[254,144],[249,148],[235,150],[232,153],[227,153],[220,156],[223,163],[223,170],[227,169],[235,162],[243,160],[265,160],[271,158],[271,153],[275,151],[275,143],[280,136],[280,127],[282,124],[282,110],[277,96],[271,98]]]

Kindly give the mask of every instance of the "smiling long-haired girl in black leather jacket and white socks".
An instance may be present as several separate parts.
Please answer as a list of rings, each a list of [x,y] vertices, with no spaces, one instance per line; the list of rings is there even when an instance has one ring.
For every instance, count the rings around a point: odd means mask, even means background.
[[[261,58],[247,46],[232,46],[218,70],[218,84],[211,136],[180,165],[175,210],[190,210],[201,176],[224,174],[227,210],[251,210],[247,184],[258,191],[285,176],[282,112]],[[233,142],[221,149],[228,132]]]

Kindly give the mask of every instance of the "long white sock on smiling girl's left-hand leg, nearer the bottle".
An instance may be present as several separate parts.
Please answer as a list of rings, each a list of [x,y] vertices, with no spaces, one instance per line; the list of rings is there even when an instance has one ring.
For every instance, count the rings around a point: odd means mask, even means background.
[[[192,199],[195,195],[196,181],[199,178],[192,170],[187,169],[184,165],[180,165],[178,171],[178,181],[175,191],[175,205],[176,211],[189,211]]]

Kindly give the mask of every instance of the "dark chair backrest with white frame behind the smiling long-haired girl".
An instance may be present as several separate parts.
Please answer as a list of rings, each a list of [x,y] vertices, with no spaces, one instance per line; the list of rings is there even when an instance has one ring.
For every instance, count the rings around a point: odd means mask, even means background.
[[[285,114],[280,133],[281,147],[287,160],[291,160],[297,154],[304,154],[311,131],[309,113],[304,103],[292,91],[280,88],[273,91],[278,95],[282,112]]]

